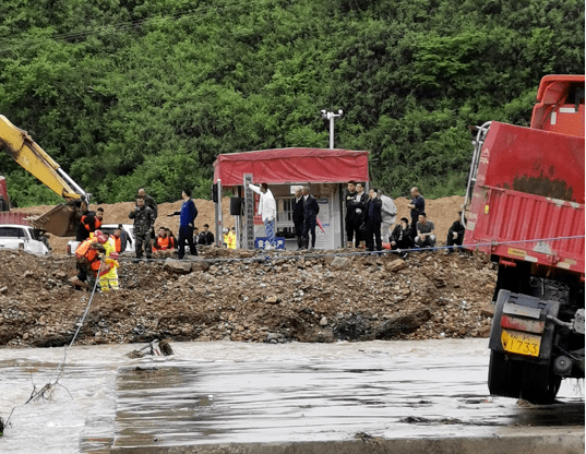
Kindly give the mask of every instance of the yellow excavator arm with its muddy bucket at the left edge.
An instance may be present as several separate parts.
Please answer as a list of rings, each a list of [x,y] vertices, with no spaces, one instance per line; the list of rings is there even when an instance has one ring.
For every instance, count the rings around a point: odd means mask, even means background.
[[[16,128],[0,115],[0,148],[3,148],[26,171],[68,201],[40,216],[28,218],[35,228],[58,237],[75,234],[76,224],[87,210],[86,194],[26,131]]]

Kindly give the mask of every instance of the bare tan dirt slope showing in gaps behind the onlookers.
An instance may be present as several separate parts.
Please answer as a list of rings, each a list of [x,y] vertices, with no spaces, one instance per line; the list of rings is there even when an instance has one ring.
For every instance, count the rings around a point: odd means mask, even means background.
[[[407,207],[409,202],[410,200],[405,198],[395,199],[395,204],[397,205],[398,211],[397,222],[402,217],[407,217],[408,219],[410,219],[409,208]],[[179,217],[167,217],[167,215],[179,211],[179,208],[181,207],[181,203],[182,201],[159,204],[156,227],[168,227],[177,234],[177,230],[179,229]],[[428,218],[432,220],[435,225],[435,234],[438,235],[439,243],[445,243],[447,230],[452,223],[456,219],[457,212],[463,203],[464,198],[459,195],[426,201],[426,213],[428,215]],[[196,227],[201,229],[204,224],[208,224],[210,226],[212,226],[212,230],[214,231],[214,202],[196,199],[195,205],[199,212],[198,218],[195,220]],[[97,208],[97,206],[98,205],[89,205],[92,210]],[[129,219],[128,215],[133,210],[134,202],[101,204],[99,206],[104,208],[105,224],[132,224],[132,219]],[[50,205],[44,205],[28,208],[19,208],[15,211],[41,214],[49,211],[51,207],[52,206]],[[226,227],[234,227],[235,217],[230,216],[230,201],[228,198],[224,198],[222,207],[224,225]],[[73,238],[59,238],[51,236],[49,238],[49,243],[51,244],[52,252],[58,254],[64,254],[67,250],[67,243],[71,239]]]

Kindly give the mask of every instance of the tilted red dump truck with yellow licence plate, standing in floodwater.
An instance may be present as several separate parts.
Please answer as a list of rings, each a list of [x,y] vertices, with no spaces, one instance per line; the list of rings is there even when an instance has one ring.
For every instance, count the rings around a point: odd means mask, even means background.
[[[530,128],[477,128],[464,243],[498,264],[490,393],[549,403],[584,378],[584,75],[537,101]]]

